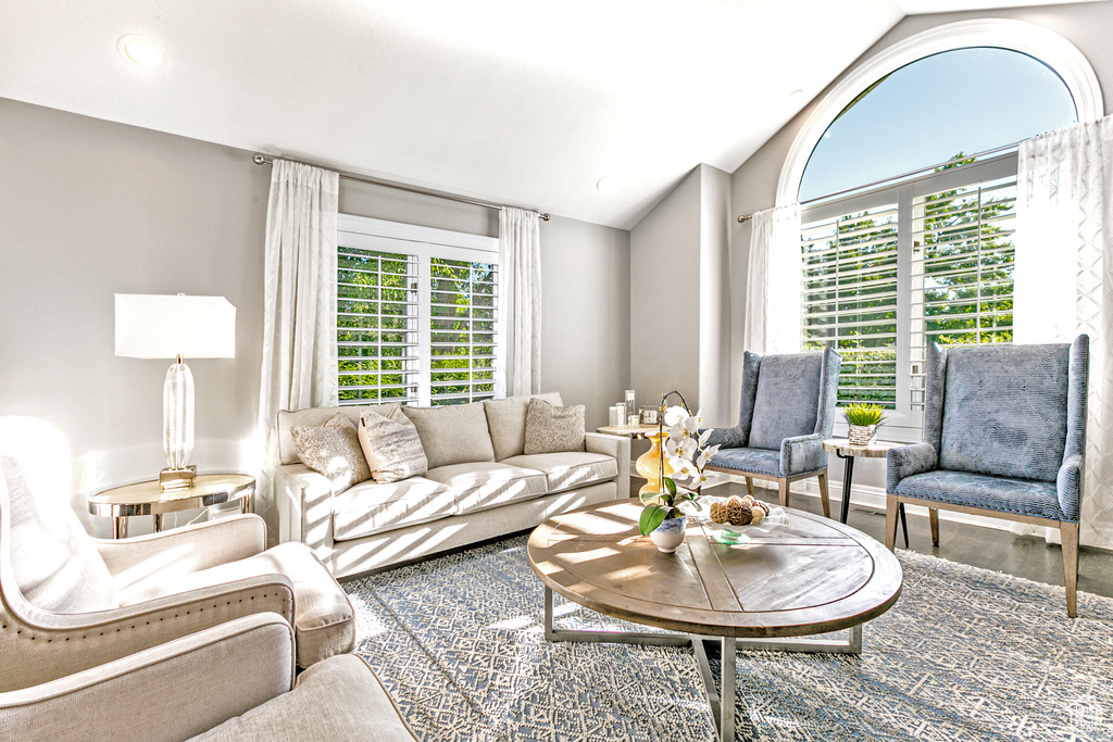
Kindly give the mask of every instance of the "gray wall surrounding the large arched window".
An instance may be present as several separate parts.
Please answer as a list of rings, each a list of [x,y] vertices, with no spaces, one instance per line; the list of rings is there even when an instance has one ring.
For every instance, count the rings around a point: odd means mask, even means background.
[[[906,18],[893,30],[867,50],[851,66],[851,70],[881,50],[922,31],[961,20],[975,18],[1011,18],[1025,20],[1048,28],[1076,46],[1090,61],[1102,87],[1106,115],[1113,112],[1113,44],[1109,43],[1110,30],[1113,29],[1113,2],[1083,3],[1075,6],[1055,6],[1044,8],[1011,9],[977,13],[938,13]],[[731,317],[733,327],[731,337],[735,343],[730,349],[731,374],[735,378],[741,375],[742,321],[745,319],[746,263],[749,257],[750,226],[739,225],[740,214],[752,214],[775,206],[777,182],[788,156],[789,148],[796,136],[811,116],[816,106],[831,88],[846,77],[839,76],[831,85],[818,95],[811,105],[801,110],[787,126],[778,131],[765,146],[750,157],[731,177],[732,218],[731,229]],[[737,408],[738,389],[732,390],[731,406]],[[839,416],[841,417],[841,416]],[[841,419],[836,427],[839,432]],[[898,437],[898,436],[892,436]],[[916,435],[903,435],[906,439],[917,439]],[[840,481],[843,467],[837,462],[831,466],[835,481]],[[855,485],[884,487],[884,459],[863,459],[856,465]]]

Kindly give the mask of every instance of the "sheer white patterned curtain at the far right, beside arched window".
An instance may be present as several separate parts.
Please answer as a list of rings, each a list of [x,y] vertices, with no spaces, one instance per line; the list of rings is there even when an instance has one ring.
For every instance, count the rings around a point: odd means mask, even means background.
[[[1021,142],[1016,182],[1015,342],[1090,336],[1081,541],[1111,548],[1113,117]]]

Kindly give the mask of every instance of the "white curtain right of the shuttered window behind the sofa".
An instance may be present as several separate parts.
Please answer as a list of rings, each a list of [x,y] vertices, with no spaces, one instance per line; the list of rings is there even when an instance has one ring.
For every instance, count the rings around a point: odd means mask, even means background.
[[[536,212],[499,215],[499,347],[495,396],[541,390],[541,222]]]

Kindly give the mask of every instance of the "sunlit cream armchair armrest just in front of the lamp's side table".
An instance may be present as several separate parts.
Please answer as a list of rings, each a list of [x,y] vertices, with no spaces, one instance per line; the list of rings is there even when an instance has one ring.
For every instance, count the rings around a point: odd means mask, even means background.
[[[132,538],[95,538],[93,544],[120,592],[155,572],[189,574],[260,554],[267,526],[258,515],[236,515]]]

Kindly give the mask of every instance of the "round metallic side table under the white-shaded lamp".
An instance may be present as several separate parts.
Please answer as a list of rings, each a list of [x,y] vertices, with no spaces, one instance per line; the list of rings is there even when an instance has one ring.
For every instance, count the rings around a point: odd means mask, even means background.
[[[111,487],[89,496],[89,512],[112,518],[112,538],[127,538],[128,518],[154,515],[155,533],[162,530],[167,513],[209,507],[239,501],[247,513],[255,493],[255,477],[246,474],[200,474],[189,487],[162,491],[158,479]]]

